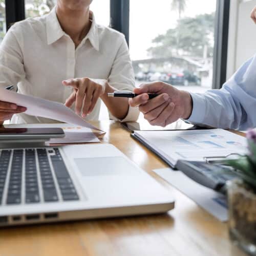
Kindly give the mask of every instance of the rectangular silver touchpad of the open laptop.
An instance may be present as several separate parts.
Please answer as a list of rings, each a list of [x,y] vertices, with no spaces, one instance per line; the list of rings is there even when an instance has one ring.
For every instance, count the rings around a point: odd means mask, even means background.
[[[74,159],[82,176],[135,175],[136,167],[123,157]]]

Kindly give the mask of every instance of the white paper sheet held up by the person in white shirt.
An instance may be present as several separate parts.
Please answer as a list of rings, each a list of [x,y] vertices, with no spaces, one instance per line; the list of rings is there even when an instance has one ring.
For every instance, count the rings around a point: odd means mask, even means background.
[[[59,102],[19,94],[4,88],[0,88],[0,100],[25,106],[27,108],[25,113],[31,116],[50,118],[60,122],[72,123],[101,131],[97,127],[83,120],[80,116],[76,115],[74,111],[67,108],[67,106]]]

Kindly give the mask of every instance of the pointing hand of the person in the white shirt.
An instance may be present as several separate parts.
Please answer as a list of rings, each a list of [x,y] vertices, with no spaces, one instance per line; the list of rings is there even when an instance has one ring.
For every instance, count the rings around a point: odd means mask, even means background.
[[[75,102],[75,112],[77,115],[86,117],[90,114],[98,98],[104,94],[106,87],[106,82],[96,81],[88,77],[62,81],[64,86],[72,86],[74,89],[73,93],[66,100],[65,105],[70,108]]]

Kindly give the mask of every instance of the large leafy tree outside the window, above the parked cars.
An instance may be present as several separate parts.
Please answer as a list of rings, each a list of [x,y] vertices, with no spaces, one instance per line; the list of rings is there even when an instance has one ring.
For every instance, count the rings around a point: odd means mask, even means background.
[[[154,46],[147,51],[152,57],[172,56],[177,52],[203,57],[204,48],[207,47],[208,56],[212,56],[214,20],[215,13],[181,18],[176,28],[154,38]]]

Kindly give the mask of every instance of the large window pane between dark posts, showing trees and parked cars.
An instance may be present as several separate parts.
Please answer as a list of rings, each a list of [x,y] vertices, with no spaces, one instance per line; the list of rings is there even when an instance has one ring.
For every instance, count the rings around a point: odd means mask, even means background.
[[[216,0],[130,0],[137,84],[162,80],[186,90],[211,88],[215,12]]]

